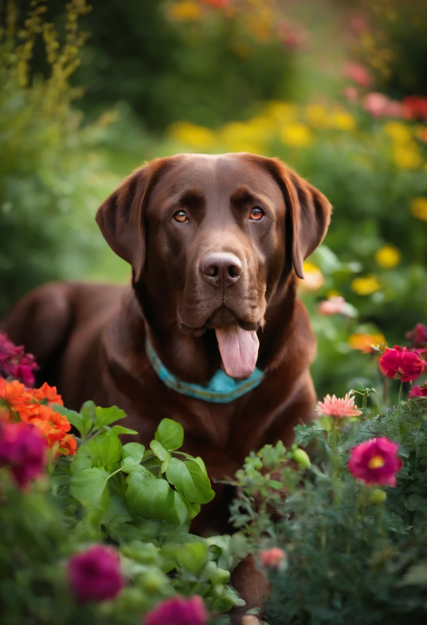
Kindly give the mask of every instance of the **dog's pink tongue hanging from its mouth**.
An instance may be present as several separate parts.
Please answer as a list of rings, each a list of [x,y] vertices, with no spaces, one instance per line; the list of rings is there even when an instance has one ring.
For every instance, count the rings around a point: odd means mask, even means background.
[[[215,327],[222,365],[230,377],[252,376],[260,342],[256,332],[240,326]]]

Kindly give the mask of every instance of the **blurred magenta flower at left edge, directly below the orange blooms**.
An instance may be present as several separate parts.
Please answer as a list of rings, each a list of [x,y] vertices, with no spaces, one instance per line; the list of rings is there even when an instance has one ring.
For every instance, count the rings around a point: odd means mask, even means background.
[[[46,441],[36,427],[0,422],[0,466],[9,466],[20,488],[43,472]]]

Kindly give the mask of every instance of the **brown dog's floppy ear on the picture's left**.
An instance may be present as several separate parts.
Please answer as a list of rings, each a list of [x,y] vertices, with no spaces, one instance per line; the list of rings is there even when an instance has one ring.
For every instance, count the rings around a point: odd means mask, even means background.
[[[145,262],[145,207],[170,159],[155,159],[130,174],[102,202],[96,222],[111,249],[132,265],[138,282]]]

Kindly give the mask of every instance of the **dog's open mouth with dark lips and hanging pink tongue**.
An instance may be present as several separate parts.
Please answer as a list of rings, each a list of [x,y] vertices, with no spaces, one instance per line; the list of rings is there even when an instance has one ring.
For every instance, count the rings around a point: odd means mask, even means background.
[[[221,354],[221,366],[228,376],[237,379],[250,377],[255,371],[259,348],[258,327],[259,321],[253,323],[238,319],[226,306],[218,308],[202,327],[181,325],[183,332],[194,336],[202,336],[208,328],[213,328]]]

